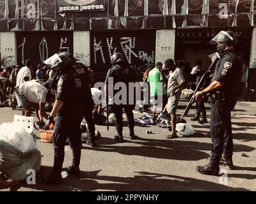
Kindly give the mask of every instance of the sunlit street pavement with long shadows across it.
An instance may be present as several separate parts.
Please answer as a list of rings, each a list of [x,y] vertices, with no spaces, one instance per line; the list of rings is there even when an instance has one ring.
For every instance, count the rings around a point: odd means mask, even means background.
[[[178,115],[187,103],[180,102]],[[208,120],[209,110],[207,105]],[[20,110],[0,108],[0,124],[12,122],[13,115],[20,113]],[[134,115],[140,117],[141,113]],[[41,184],[42,177],[51,173],[54,152],[51,143],[38,139],[42,168],[36,177],[36,185],[22,183],[12,191],[256,191],[256,103],[240,101],[232,112],[235,168],[226,170],[220,166],[221,177],[201,175],[195,170],[196,166],[209,162],[211,138],[205,137],[205,133],[209,133],[209,124],[190,121],[194,115],[195,107],[184,119],[192,124],[195,135],[172,140],[165,138],[170,133],[168,129],[139,125],[135,127],[135,133],[140,140],[129,140],[126,126],[125,142],[116,143],[113,140],[114,126],[109,131],[106,126],[97,126],[102,138],[97,140],[94,148],[83,144],[81,178],[68,175],[59,186]],[[152,134],[146,133],[148,129]],[[34,133],[40,136],[38,131]],[[243,153],[248,157],[242,156]],[[70,166],[71,160],[72,151],[66,146],[63,171]]]

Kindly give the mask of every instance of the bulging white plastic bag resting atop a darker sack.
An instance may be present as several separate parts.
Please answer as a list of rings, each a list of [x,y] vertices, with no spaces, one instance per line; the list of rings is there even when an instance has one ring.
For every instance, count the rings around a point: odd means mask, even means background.
[[[31,152],[36,148],[34,136],[27,133],[24,126],[19,122],[1,124],[0,140],[11,143],[15,149],[22,153]]]

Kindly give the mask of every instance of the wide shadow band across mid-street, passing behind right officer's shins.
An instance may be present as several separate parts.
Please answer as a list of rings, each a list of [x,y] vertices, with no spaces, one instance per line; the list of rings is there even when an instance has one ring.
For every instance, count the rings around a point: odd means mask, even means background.
[[[202,150],[211,150],[211,143],[184,141],[184,138],[172,140],[155,140],[140,138],[140,140],[129,140],[124,138],[125,146],[116,146],[112,138],[101,138],[97,141],[97,147],[84,147],[84,149],[102,152],[118,152],[125,155],[136,155],[158,159],[175,159],[183,161],[198,161],[209,157]],[[186,139],[186,138],[185,138]],[[122,144],[124,144],[122,143]],[[132,145],[127,145],[132,143]],[[134,145],[135,144],[135,145]],[[255,148],[234,144],[234,152],[251,152]]]

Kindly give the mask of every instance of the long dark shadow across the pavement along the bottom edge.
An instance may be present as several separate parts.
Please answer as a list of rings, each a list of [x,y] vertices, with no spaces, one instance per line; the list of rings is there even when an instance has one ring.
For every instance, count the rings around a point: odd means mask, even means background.
[[[36,185],[23,183],[12,191],[17,191],[20,187],[28,188],[29,191],[248,191],[244,188],[224,186],[206,180],[145,171],[134,172],[136,174],[134,177],[98,175],[101,170],[81,171],[79,179],[68,176],[61,185],[42,184],[42,175],[48,175],[51,170],[49,166],[42,166],[36,177]],[[239,174],[228,174],[228,176],[246,177]],[[205,175],[206,177],[211,176]],[[255,175],[249,177],[249,179],[253,178],[255,179]]]

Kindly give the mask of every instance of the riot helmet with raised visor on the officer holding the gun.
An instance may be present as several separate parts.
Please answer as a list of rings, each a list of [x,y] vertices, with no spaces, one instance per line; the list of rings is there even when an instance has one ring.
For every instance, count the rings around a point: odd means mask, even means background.
[[[234,45],[237,43],[236,33],[233,31],[220,31],[220,33],[216,34],[214,38],[210,41],[212,45],[215,45],[221,41],[226,41],[228,46]]]

